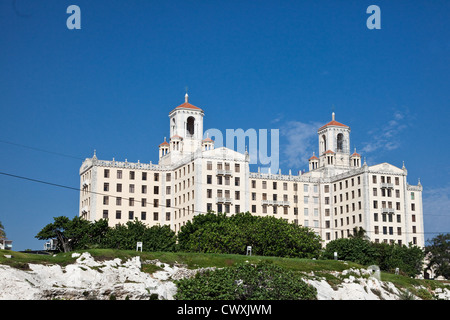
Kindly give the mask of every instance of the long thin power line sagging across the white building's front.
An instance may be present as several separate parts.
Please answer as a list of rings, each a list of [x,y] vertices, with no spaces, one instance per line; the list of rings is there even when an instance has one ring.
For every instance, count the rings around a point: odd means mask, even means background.
[[[80,188],[75,188],[75,187],[65,186],[65,185],[62,185],[62,184],[57,184],[57,183],[53,183],[53,182],[44,181],[44,180],[33,179],[33,178],[29,178],[29,177],[24,177],[24,176],[19,176],[19,175],[7,173],[7,172],[1,172],[0,171],[0,174],[4,175],[4,176],[9,176],[9,177],[12,177],[12,178],[17,178],[17,179],[27,180],[27,181],[31,181],[31,182],[46,184],[46,185],[50,185],[50,186],[54,186],[54,187],[58,187],[58,188],[69,189],[69,190],[74,190],[74,191],[78,191],[78,192],[85,191],[85,190],[80,189]],[[119,197],[119,196],[115,196],[115,195],[111,195],[109,193],[103,193],[103,192],[96,192],[96,191],[88,191],[88,192],[92,193],[92,194],[108,196],[108,197],[112,197],[112,198],[120,198],[120,199],[124,199],[124,200],[130,200],[131,199],[131,198]],[[132,198],[132,199],[134,200],[134,198]],[[144,201],[144,202],[146,204],[151,204],[151,205],[153,205],[153,207],[156,207],[156,208],[161,206],[161,207],[178,209],[178,210],[185,209],[185,208],[180,208],[180,207],[166,206],[164,204],[158,204],[157,206],[155,206],[154,203],[147,202],[147,201]],[[192,210],[192,212],[197,212],[197,213],[200,213],[200,214],[208,213],[208,212],[204,212],[204,211],[200,211],[200,210]],[[326,230],[329,230],[329,231],[347,231],[347,230],[353,231],[353,228],[351,228],[351,229],[349,229],[349,228],[331,228],[331,227],[330,228],[325,228],[325,227],[309,227],[309,226],[308,226],[308,228],[311,228],[311,229],[326,229]],[[375,231],[372,231],[372,230],[365,230],[365,232],[366,233],[380,234],[379,232],[375,233]],[[450,231],[444,231],[444,232],[406,232],[406,231],[402,231],[401,234],[442,234],[442,233],[450,233]],[[386,235],[386,234],[380,234],[380,235]],[[389,235],[393,235],[393,234],[389,234]]]

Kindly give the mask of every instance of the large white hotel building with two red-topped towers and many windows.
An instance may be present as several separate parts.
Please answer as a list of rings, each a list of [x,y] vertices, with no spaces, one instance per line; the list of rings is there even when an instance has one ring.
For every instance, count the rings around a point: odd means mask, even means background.
[[[368,166],[350,151],[350,128],[332,121],[318,129],[319,154],[299,175],[254,173],[249,155],[203,136],[204,111],[188,102],[169,113],[170,140],[159,162],[99,160],[80,168],[80,216],[107,218],[111,226],[138,219],[178,232],[197,214],[272,215],[312,228],[324,240],[363,228],[374,242],[424,246],[422,186],[407,170]]]

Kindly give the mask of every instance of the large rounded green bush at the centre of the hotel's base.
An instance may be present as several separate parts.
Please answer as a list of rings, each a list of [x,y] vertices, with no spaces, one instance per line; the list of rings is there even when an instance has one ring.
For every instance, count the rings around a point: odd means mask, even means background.
[[[309,228],[248,212],[198,215],[181,228],[178,241],[184,251],[243,254],[252,246],[254,255],[279,257],[318,257],[321,249]]]

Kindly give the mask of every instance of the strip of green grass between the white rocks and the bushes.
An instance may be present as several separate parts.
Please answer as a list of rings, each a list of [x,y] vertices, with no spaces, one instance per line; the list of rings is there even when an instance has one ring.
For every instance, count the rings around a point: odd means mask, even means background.
[[[335,260],[311,260],[311,259],[295,259],[295,258],[278,258],[278,257],[262,257],[262,256],[244,256],[244,255],[232,255],[232,254],[213,254],[213,253],[190,253],[190,252],[136,252],[126,250],[113,250],[113,249],[90,249],[83,250],[81,252],[89,252],[96,260],[112,260],[120,258],[125,261],[134,256],[140,256],[141,261],[155,260],[167,264],[184,264],[190,269],[205,268],[205,267],[227,267],[238,263],[248,261],[250,263],[258,263],[261,261],[271,261],[274,264],[280,265],[287,269],[298,271],[302,273],[314,272],[317,275],[325,276],[327,281],[331,284],[339,284],[342,279],[336,278],[330,275],[329,271],[343,271],[346,269],[365,269],[352,262],[343,262]],[[29,270],[28,264],[59,264],[67,265],[74,263],[76,258],[72,258],[72,253],[59,253],[55,256],[51,255],[35,255],[28,253],[21,253],[16,251],[0,250],[0,264],[10,265],[22,270]],[[12,258],[8,259],[4,255],[12,255]],[[147,269],[148,272],[154,271],[153,268]],[[144,271],[146,271],[144,269]],[[448,283],[442,283],[440,281],[433,280],[417,280],[402,275],[394,275],[391,273],[382,272],[382,281],[389,281],[401,289],[408,289],[414,293],[417,293],[415,286],[422,285],[428,289],[434,290],[437,287],[443,287]],[[427,298],[427,297],[424,297]]]

